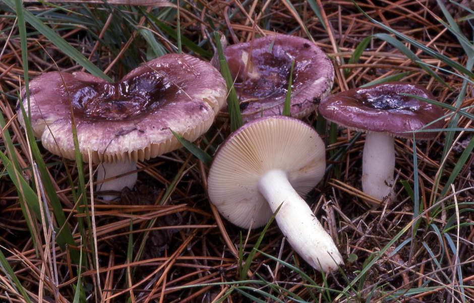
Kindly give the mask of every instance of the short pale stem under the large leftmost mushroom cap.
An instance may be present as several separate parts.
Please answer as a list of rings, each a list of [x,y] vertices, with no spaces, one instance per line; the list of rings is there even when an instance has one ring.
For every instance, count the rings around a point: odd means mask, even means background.
[[[97,168],[97,181],[124,174],[137,169],[137,163],[134,161],[116,162],[116,163],[100,163]],[[137,182],[137,173],[130,173],[120,178],[104,181],[97,185],[97,191],[121,191],[123,188],[132,189]],[[102,199],[110,201],[116,196],[102,195]]]

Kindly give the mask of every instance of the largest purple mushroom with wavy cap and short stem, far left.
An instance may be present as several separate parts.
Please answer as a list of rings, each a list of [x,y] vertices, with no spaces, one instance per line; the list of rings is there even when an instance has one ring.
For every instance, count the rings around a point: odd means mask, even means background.
[[[212,65],[187,54],[153,59],[117,83],[82,72],[50,72],[29,88],[35,136],[50,152],[74,159],[72,108],[84,161],[101,163],[98,181],[136,170],[137,160],[179,148],[170,130],[196,140],[213,123],[227,91]],[[28,112],[24,91],[22,102]],[[21,111],[19,118],[24,124]],[[98,190],[132,188],[136,180],[132,173],[105,181]]]

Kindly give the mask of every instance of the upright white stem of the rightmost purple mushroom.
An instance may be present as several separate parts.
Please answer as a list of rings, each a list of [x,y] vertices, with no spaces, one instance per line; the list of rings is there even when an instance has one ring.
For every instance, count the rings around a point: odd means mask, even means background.
[[[392,136],[367,133],[362,160],[362,189],[379,200],[393,199],[395,147]]]

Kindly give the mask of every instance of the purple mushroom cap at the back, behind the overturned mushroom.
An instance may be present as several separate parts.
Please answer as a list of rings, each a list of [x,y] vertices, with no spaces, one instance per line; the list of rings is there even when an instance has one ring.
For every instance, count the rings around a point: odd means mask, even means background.
[[[294,60],[291,116],[301,118],[313,111],[331,91],[334,68],[327,55],[313,42],[289,35],[268,35],[224,48],[235,79],[245,122],[280,115]],[[217,53],[212,61],[218,67]]]

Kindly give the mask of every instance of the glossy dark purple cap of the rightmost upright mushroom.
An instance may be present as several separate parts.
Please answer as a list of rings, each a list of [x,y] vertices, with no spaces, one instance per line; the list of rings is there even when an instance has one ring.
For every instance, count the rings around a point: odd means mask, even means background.
[[[389,133],[412,138],[412,133],[443,116],[443,110],[431,103],[400,93],[434,100],[423,86],[407,82],[388,82],[347,90],[324,99],[319,112],[326,119],[349,129]],[[441,119],[426,129],[441,129]],[[416,133],[417,139],[431,139],[436,132]]]

